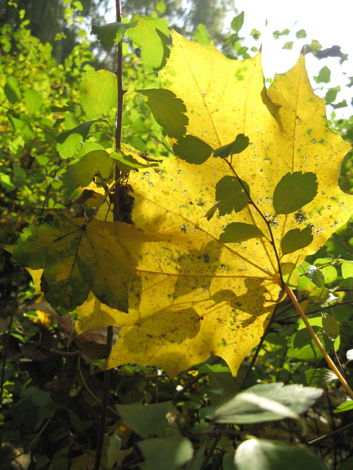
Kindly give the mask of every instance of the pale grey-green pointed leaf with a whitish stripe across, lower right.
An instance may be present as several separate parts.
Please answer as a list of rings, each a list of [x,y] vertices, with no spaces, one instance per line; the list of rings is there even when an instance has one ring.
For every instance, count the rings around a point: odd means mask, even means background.
[[[298,384],[258,384],[217,407],[212,419],[218,423],[245,424],[294,417],[293,414],[307,411],[321,395],[322,390]]]

